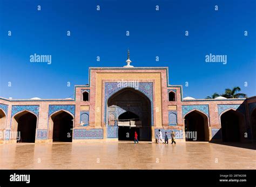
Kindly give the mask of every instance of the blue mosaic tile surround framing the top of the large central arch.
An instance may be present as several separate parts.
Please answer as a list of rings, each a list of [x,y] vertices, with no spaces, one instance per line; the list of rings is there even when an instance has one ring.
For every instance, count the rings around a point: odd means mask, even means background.
[[[106,113],[107,113],[107,100],[116,92],[119,90],[124,89],[125,87],[119,87],[118,82],[105,82],[105,108],[104,108],[104,121],[107,123],[106,120]],[[126,87],[131,88],[131,87]],[[152,82],[139,82],[138,91],[144,93],[149,99],[151,103],[151,125],[154,125],[154,119],[153,119],[153,83]]]

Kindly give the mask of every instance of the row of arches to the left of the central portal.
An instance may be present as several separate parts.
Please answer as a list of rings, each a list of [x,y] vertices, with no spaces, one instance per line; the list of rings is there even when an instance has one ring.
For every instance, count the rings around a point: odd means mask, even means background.
[[[17,142],[34,143],[37,128],[36,114],[24,110],[15,114],[11,119],[11,131],[20,133]],[[5,128],[6,115],[0,109],[1,130]],[[49,117],[49,139],[52,141],[72,142],[73,116],[66,111],[57,111]],[[19,136],[18,136],[19,137]]]

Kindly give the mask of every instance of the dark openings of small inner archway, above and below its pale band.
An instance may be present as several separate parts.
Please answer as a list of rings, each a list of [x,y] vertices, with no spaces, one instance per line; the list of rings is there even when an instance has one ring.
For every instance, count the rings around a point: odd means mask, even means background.
[[[125,120],[125,119],[134,119],[135,121],[137,121],[137,120],[139,120],[139,117],[136,114],[134,114],[130,111],[127,111],[118,117],[118,120]],[[130,128],[130,127],[119,126],[118,127],[118,140],[134,140],[135,131],[138,134],[138,140],[140,140],[139,128],[136,128],[136,127]]]

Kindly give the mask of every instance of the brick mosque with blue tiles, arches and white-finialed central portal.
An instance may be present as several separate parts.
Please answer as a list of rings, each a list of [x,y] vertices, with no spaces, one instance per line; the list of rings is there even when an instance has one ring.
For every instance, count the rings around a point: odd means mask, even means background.
[[[154,142],[158,130],[176,140],[255,142],[256,96],[183,98],[168,67],[91,67],[74,98],[0,97],[0,142]],[[195,135],[196,137],[192,136]]]

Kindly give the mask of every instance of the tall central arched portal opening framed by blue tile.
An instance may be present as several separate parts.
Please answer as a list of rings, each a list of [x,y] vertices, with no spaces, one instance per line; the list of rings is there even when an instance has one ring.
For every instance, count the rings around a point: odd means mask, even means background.
[[[134,131],[137,131],[139,141],[152,141],[151,103],[144,93],[133,88],[114,93],[107,101],[107,121],[113,113],[117,117],[114,121],[117,121],[119,140],[128,139],[125,138],[128,130],[129,140],[133,140]]]

